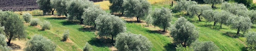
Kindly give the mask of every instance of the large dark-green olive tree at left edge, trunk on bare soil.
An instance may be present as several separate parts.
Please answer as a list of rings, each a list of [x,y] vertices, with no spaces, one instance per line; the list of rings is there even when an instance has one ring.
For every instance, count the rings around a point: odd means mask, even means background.
[[[17,14],[11,11],[0,12],[0,23],[2,24],[1,26],[5,27],[4,35],[8,39],[8,46],[10,46],[11,40],[26,38],[26,27],[24,27],[22,19]]]

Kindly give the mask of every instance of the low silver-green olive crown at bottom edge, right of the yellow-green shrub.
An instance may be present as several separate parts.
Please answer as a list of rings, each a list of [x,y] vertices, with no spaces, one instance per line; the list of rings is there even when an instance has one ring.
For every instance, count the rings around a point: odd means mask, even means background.
[[[194,51],[220,51],[220,48],[212,41],[195,41],[191,44],[190,48],[192,48]]]

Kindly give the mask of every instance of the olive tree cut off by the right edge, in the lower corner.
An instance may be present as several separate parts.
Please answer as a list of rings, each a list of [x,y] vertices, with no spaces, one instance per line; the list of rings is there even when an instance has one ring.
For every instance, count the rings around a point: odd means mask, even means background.
[[[246,37],[246,43],[248,45],[248,50],[256,50],[256,32],[248,32]]]

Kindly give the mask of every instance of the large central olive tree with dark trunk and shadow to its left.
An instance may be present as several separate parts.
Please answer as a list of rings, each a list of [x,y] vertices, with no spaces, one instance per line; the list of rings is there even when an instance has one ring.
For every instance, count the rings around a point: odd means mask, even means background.
[[[115,15],[99,15],[95,23],[97,25],[96,29],[99,31],[97,35],[100,37],[111,37],[112,43],[117,34],[126,31],[125,21]]]

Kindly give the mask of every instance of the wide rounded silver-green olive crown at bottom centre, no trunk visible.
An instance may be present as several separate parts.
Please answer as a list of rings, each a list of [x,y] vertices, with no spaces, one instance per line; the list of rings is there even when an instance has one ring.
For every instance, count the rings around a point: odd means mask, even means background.
[[[115,47],[119,51],[150,51],[152,43],[141,34],[125,32],[117,35]]]

